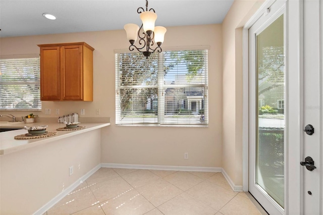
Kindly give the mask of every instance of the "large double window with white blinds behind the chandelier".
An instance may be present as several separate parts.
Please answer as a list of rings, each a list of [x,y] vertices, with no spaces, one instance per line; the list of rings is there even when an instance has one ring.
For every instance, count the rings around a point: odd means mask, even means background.
[[[116,53],[116,124],[207,125],[207,50]]]

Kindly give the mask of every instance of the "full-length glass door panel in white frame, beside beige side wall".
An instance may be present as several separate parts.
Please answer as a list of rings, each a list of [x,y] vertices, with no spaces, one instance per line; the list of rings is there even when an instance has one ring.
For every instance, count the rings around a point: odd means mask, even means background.
[[[285,1],[249,29],[249,191],[270,214],[285,210]],[[282,4],[283,3],[283,4]]]

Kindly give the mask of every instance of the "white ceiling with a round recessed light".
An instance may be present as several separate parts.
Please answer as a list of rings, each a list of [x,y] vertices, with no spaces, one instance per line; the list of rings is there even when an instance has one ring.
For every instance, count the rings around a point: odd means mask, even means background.
[[[234,0],[149,0],[158,15],[155,25],[222,23]],[[141,25],[137,9],[145,0],[0,0],[0,37],[119,30]],[[48,20],[50,13],[57,17]]]

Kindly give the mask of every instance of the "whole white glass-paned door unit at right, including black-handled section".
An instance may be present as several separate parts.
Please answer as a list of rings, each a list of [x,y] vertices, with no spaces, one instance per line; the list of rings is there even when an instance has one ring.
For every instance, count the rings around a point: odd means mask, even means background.
[[[323,6],[271,3],[249,28],[249,192],[270,214],[322,214]]]

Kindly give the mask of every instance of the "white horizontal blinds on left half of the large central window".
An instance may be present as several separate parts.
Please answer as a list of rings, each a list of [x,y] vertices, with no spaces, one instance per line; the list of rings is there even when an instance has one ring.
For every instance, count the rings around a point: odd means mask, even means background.
[[[116,53],[116,124],[157,123],[158,55]]]

